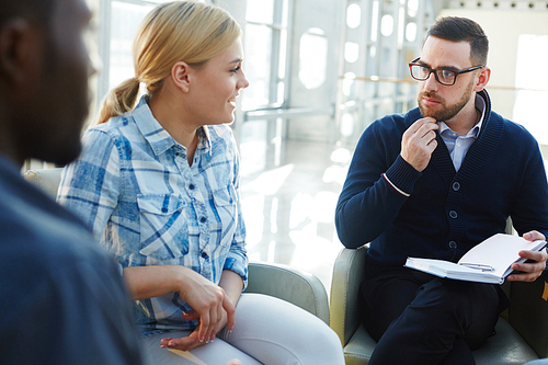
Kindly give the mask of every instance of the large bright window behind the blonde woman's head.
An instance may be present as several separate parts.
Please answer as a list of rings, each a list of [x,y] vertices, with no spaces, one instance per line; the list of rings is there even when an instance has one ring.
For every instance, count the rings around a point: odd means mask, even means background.
[[[134,76],[133,41],[145,15],[164,0],[88,0],[99,9],[99,102],[107,91]],[[248,111],[277,107],[287,89],[288,13],[292,0],[247,0],[244,22],[244,70],[253,80],[242,94]],[[218,3],[218,1],[202,0]],[[240,1],[222,1],[231,13]],[[235,13],[232,13],[236,15]]]

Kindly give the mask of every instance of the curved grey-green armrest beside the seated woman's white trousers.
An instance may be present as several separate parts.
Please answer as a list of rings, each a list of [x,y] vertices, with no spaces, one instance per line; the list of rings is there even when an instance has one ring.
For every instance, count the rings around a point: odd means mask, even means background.
[[[246,293],[265,294],[284,299],[319,317],[329,326],[326,287],[318,277],[299,269],[250,262]]]

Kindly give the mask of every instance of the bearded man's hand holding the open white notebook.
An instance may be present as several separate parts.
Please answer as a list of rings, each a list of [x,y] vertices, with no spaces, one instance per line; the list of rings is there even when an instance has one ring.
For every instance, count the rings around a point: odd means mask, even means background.
[[[536,230],[532,230],[530,232],[523,235],[523,238],[528,241],[546,240],[545,236]],[[510,282],[534,282],[538,276],[543,274],[543,271],[546,269],[546,260],[548,259],[546,250],[524,250],[520,251],[520,256],[533,262],[513,263],[512,270],[520,271],[521,273],[512,274],[506,280]]]

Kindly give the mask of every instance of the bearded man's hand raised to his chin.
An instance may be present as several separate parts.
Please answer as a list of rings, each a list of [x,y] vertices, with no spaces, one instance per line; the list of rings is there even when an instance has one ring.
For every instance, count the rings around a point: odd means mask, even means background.
[[[425,117],[413,123],[401,138],[401,157],[419,172],[426,169],[437,147],[437,128],[434,118]]]

